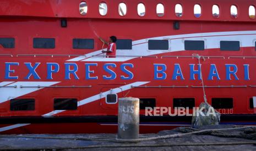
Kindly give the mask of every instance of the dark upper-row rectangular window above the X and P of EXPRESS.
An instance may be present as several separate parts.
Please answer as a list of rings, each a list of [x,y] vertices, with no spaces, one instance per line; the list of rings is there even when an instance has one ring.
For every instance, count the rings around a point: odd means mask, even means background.
[[[54,49],[55,38],[34,38],[33,48],[36,49]]]

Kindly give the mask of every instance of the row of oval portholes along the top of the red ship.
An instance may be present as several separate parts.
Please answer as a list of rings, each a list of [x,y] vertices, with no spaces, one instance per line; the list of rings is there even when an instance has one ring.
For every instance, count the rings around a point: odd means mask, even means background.
[[[79,5],[79,11],[81,15],[86,15],[88,11],[88,5],[86,2],[81,2]],[[146,13],[146,8],[143,3],[139,3],[137,6],[137,11],[139,16],[144,16]],[[99,4],[99,13],[102,16],[107,14],[107,4],[102,2]],[[118,5],[118,14],[120,16],[125,16],[127,14],[127,5],[125,3],[119,3]],[[159,17],[164,16],[165,14],[165,7],[163,4],[159,3],[156,5],[156,14]],[[175,14],[177,17],[182,17],[183,15],[183,8],[181,4],[175,5]],[[232,5],[230,7],[230,14],[232,18],[237,18],[238,9],[236,5]],[[201,6],[199,4],[194,5],[194,16],[196,18],[200,18],[201,16]],[[213,5],[213,18],[219,18],[220,16],[220,8],[218,5]],[[249,6],[249,18],[255,19],[255,7],[253,5]]]

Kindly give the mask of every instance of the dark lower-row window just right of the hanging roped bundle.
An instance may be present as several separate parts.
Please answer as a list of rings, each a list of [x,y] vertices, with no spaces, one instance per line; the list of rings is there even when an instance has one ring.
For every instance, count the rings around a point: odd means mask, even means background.
[[[233,98],[212,98],[211,106],[216,109],[233,108]]]

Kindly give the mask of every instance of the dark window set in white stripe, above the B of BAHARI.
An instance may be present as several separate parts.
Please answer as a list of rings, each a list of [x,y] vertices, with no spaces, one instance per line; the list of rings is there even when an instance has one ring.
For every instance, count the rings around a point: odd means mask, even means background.
[[[149,40],[149,50],[168,50],[168,40]]]

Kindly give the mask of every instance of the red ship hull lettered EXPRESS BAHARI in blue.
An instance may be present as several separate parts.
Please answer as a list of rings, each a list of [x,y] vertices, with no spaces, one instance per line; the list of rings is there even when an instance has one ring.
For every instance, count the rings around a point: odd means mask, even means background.
[[[154,10],[157,1],[144,2],[149,9],[144,17],[137,15],[140,1],[125,1],[126,16],[118,15],[117,1],[107,3],[108,13],[101,16],[100,2],[88,1],[85,16],[79,14],[80,1],[0,2],[0,40],[15,39],[13,48],[0,47],[0,133],[116,132],[118,102],[107,102],[108,94],[153,99],[154,107],[171,108],[175,98],[193,98],[198,107],[204,101],[199,70],[209,104],[213,98],[232,100],[231,107],[217,104],[221,124],[256,125],[256,20],[248,16],[254,1],[234,2],[237,19],[229,12],[233,1],[164,1],[161,18]],[[181,18],[167,7],[177,3],[184,9]],[[204,10],[200,18],[191,7],[197,3]],[[223,10],[217,19],[211,13],[216,3]],[[61,26],[62,20],[67,27]],[[102,55],[106,45],[98,36],[112,35],[131,40],[132,49],[117,48],[115,57]],[[54,39],[54,47],[35,48],[35,38]],[[74,39],[93,39],[92,47],[75,49]],[[150,40],[166,40],[168,48],[156,45],[159,49],[152,50]],[[203,42],[203,50],[187,49],[186,41]],[[221,50],[220,43],[230,41],[238,42],[239,50]],[[200,65],[195,54],[204,56]],[[75,98],[76,109],[56,109],[54,100],[60,98]],[[15,99],[34,100],[34,109],[12,108]],[[141,133],[191,121],[167,114],[146,117],[145,109],[140,114]]]

